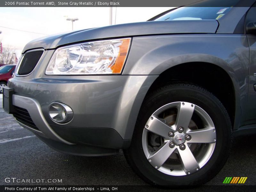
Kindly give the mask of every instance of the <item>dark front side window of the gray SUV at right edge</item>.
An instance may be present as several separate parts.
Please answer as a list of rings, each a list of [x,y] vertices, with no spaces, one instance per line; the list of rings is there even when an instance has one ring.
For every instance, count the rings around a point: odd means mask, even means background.
[[[245,18],[246,34],[256,35],[256,3],[250,8]]]

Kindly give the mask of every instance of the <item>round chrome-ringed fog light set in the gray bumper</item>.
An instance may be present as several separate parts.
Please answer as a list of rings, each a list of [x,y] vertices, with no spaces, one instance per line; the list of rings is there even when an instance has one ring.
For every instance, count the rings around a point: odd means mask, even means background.
[[[73,111],[64,103],[53,102],[49,106],[49,115],[57,123],[67,123],[73,118]]]

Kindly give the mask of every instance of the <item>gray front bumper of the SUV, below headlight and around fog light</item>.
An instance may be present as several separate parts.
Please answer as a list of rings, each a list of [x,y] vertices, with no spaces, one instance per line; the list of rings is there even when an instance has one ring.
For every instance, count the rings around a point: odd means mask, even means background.
[[[36,128],[18,122],[57,151],[83,156],[116,154],[130,145],[140,105],[157,76],[71,76],[10,79],[12,103],[26,109]],[[53,122],[49,104],[74,112],[66,124]]]

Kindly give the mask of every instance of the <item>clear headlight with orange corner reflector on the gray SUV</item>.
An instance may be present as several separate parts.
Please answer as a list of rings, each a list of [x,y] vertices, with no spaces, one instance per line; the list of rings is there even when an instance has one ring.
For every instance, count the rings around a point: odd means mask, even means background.
[[[46,75],[120,74],[131,38],[94,41],[58,48]]]

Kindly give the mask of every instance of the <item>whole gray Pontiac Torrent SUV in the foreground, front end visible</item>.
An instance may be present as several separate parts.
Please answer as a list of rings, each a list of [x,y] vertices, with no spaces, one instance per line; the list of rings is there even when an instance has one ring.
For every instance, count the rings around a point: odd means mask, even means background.
[[[32,41],[4,109],[57,151],[123,149],[151,184],[203,184],[256,130],[255,2],[229,2]]]

